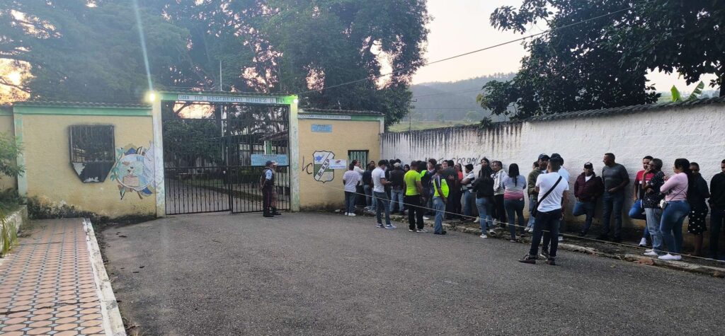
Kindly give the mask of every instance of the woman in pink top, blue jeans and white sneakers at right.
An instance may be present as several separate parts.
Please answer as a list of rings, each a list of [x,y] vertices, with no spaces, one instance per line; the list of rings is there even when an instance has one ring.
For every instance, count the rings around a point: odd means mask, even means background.
[[[672,167],[675,175],[672,175],[665,184],[660,187],[660,191],[665,194],[667,202],[665,209],[662,211],[662,221],[660,222],[660,232],[662,232],[662,240],[667,245],[668,253],[659,256],[663,260],[680,260],[682,256],[682,222],[689,214],[689,203],[687,203],[688,189],[695,185],[695,177],[689,170],[689,161],[687,159],[676,159]]]

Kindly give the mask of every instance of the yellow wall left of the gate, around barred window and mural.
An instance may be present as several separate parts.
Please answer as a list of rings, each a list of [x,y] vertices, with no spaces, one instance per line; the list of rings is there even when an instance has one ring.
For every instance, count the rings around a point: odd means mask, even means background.
[[[150,116],[25,114],[20,117],[29,197],[38,196],[42,201],[65,203],[109,217],[156,213],[155,195],[139,198],[136,192],[127,192],[122,200],[118,183],[111,180],[110,174],[104,182],[81,182],[70,164],[68,140],[70,125],[114,125],[116,148],[127,145],[148,148],[153,140]]]

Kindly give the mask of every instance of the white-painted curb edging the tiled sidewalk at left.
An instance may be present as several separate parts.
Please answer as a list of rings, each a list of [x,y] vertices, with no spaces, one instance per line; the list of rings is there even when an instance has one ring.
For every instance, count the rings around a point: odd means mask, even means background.
[[[108,336],[126,336],[126,330],[123,327],[123,319],[118,310],[116,296],[113,294],[111,281],[106,272],[106,266],[103,264],[101,257],[101,249],[96,240],[96,232],[93,230],[91,219],[83,219],[83,230],[86,231],[86,243],[88,244],[88,253],[91,257],[91,267],[93,268],[94,279],[96,280],[96,293],[101,301],[101,315],[103,315],[103,329]]]

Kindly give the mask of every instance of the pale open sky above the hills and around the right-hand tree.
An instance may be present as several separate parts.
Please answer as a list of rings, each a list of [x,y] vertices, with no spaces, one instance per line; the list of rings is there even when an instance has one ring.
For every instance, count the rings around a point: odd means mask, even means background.
[[[489,24],[489,15],[497,7],[510,5],[518,7],[521,0],[428,0],[428,13],[433,20],[428,24],[428,62],[444,59],[456,54],[492,46],[497,43],[521,38],[518,33],[496,30]],[[539,33],[547,29],[539,23],[526,33]],[[526,51],[521,42],[481,51],[450,61],[421,67],[413,76],[413,83],[450,82],[464,80],[496,72],[516,72],[521,57]],[[680,91],[692,91],[697,84],[685,85],[677,75],[664,72],[652,72],[647,76],[657,91],[669,91],[676,85]],[[715,78],[714,75],[700,78],[705,85]],[[711,90],[705,86],[706,90]]]

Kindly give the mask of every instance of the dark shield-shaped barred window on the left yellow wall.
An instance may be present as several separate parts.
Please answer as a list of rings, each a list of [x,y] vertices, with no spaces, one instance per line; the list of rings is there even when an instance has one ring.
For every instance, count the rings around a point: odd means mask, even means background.
[[[103,182],[115,163],[112,125],[72,125],[70,164],[83,182]]]

